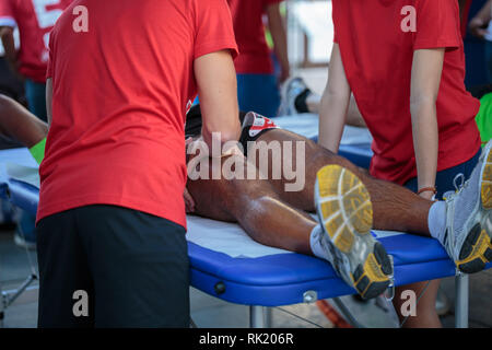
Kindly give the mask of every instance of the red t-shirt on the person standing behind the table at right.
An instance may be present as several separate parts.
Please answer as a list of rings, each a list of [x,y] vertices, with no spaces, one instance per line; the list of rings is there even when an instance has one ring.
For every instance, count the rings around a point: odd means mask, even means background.
[[[347,78],[374,137],[371,173],[405,184],[417,176],[410,114],[413,51],[446,48],[437,97],[438,164],[443,171],[480,149],[480,103],[465,89],[465,52],[456,0],[333,0],[335,42]],[[403,7],[415,32],[403,32]],[[406,22],[405,24],[411,24]]]

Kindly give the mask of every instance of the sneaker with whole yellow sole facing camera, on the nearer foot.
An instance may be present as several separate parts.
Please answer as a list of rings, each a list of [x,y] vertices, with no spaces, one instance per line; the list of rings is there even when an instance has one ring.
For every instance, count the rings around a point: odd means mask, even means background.
[[[389,287],[390,259],[371,234],[373,207],[364,184],[338,165],[321,168],[315,186],[320,243],[338,275],[364,299]]]

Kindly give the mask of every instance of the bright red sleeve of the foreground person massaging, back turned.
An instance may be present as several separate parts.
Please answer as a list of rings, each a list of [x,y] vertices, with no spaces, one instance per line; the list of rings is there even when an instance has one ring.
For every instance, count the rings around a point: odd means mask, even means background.
[[[225,0],[196,1],[195,59],[229,49],[238,55],[231,11]]]

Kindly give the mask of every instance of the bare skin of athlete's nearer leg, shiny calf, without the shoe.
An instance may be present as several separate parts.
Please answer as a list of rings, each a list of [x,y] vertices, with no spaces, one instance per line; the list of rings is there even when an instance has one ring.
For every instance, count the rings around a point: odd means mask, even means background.
[[[317,222],[282,201],[268,180],[188,179],[187,188],[196,214],[237,222],[261,244],[313,255],[309,236]]]

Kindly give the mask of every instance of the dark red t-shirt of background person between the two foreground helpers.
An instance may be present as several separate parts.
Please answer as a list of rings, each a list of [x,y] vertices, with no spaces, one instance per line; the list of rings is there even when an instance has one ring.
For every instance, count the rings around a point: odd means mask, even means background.
[[[237,73],[273,73],[262,18],[268,5],[281,1],[283,0],[227,0],[239,47],[239,56],[234,61]]]

